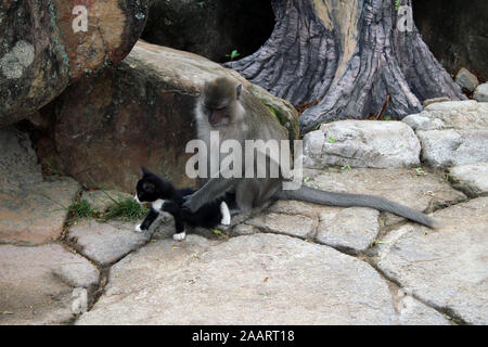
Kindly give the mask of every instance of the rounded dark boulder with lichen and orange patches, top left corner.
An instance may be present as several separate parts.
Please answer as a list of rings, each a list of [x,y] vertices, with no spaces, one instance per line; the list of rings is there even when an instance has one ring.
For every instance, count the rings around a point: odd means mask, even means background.
[[[0,126],[36,112],[82,74],[120,62],[146,15],[147,0],[3,1]]]

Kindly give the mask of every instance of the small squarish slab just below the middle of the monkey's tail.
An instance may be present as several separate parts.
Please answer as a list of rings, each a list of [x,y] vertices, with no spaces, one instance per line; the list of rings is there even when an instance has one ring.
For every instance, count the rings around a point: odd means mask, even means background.
[[[371,208],[325,207],[320,214],[317,241],[352,253],[363,252],[380,233],[378,217],[380,213]]]

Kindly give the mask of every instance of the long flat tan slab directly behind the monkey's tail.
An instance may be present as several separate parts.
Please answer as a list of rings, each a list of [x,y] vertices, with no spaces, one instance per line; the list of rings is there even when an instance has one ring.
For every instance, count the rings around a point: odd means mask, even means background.
[[[333,192],[383,196],[426,213],[466,200],[444,177],[422,169],[331,170],[310,179],[307,185]],[[390,226],[401,219],[386,214],[385,224]]]

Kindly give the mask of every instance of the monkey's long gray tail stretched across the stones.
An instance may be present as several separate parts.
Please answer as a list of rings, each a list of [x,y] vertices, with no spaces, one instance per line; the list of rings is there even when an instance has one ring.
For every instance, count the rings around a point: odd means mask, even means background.
[[[341,206],[341,207],[372,207],[378,210],[391,213],[400,217],[416,221],[418,223],[435,228],[437,221],[422,213],[407,206],[390,202],[389,200],[364,194],[333,193],[301,185],[297,190],[280,191],[278,198],[298,200],[314,204]]]

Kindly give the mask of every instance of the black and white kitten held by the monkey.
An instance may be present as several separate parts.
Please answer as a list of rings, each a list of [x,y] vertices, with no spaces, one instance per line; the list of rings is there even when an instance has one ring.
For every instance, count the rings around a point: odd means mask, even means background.
[[[152,203],[151,211],[142,223],[136,226],[137,232],[147,230],[156,220],[162,210],[167,211],[175,218],[176,234],[175,240],[181,241],[185,237],[184,226],[214,228],[221,223],[229,226],[231,215],[228,204],[234,201],[234,195],[226,193],[221,197],[202,206],[195,213],[182,208],[183,196],[191,195],[195,191],[187,189],[176,189],[171,183],[165,181],[157,175],[142,167],[143,177],[138,181],[136,201],[138,203]]]

